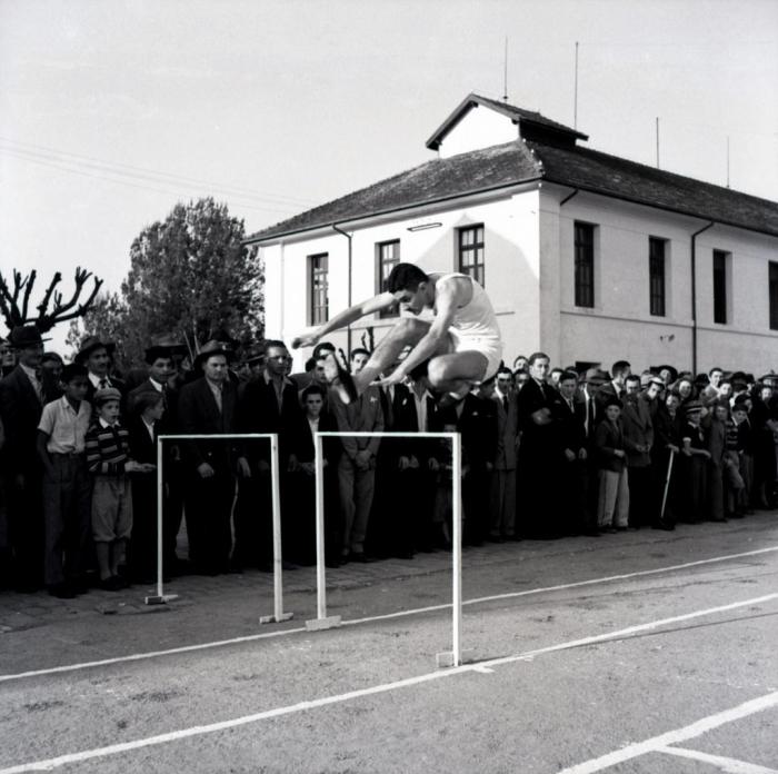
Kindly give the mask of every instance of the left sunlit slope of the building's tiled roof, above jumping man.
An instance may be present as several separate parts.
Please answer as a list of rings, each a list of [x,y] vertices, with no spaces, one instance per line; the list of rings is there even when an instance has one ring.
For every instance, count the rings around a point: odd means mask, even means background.
[[[537,179],[539,169],[516,140],[448,159],[427,161],[400,175],[296,215],[248,238],[262,241],[346,220],[391,212]]]

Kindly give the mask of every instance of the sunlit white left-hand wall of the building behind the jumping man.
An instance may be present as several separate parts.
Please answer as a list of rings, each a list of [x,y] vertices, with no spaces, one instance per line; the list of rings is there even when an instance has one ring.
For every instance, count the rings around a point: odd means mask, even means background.
[[[503,339],[509,343],[506,355],[537,348],[540,340],[538,317],[539,238],[537,211],[539,194],[529,190],[502,199],[469,207],[438,209],[428,216],[398,219],[358,229],[352,236],[351,301],[359,302],[376,295],[378,287],[377,244],[400,240],[400,260],[418,264],[427,271],[455,271],[457,268],[458,229],[482,224],[485,227],[485,285],[495,307]],[[440,224],[435,228],[409,231],[409,228]],[[332,231],[331,236],[298,239],[283,247],[262,248],[266,264],[266,336],[290,341],[310,329],[308,257],[318,252],[329,256],[330,317],[348,306],[348,240]],[[378,315],[352,326],[351,344],[359,346],[366,329],[373,328],[380,340],[395,320]],[[327,338],[347,348],[347,334],[333,333]],[[301,367],[310,348],[296,354],[295,366]],[[512,355],[511,355],[512,358]]]

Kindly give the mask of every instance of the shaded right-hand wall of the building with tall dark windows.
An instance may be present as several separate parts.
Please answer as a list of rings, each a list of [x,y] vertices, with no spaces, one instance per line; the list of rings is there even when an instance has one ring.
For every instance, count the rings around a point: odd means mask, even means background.
[[[664,363],[692,366],[691,235],[702,220],[548,187],[541,198],[542,260],[558,271],[559,296],[543,296],[545,347],[555,363],[621,358],[642,369]],[[573,224],[595,224],[595,307],[575,306]],[[649,237],[667,240],[666,315],[649,306]],[[778,240],[721,226],[697,237],[697,370],[778,367],[778,331],[769,330],[768,261]],[[727,325],[712,322],[712,251],[731,252]],[[558,250],[558,252],[557,252]],[[541,282],[542,292],[542,282]],[[555,318],[558,316],[558,322]]]

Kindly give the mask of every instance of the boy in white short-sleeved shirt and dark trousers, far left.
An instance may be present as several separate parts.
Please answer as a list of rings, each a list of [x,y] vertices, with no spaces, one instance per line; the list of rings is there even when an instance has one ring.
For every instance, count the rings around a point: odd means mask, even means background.
[[[72,599],[87,591],[92,483],[84,438],[92,414],[84,400],[87,369],[78,364],[61,373],[64,395],[43,407],[38,425],[38,456],[43,465],[43,576],[49,594]]]

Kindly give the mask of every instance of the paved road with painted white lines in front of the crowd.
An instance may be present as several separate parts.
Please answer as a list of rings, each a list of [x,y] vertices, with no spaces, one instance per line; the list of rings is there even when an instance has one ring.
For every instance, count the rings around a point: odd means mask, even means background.
[[[0,596],[0,774],[778,771],[776,514],[468,550],[453,669],[449,556],[328,580]]]

